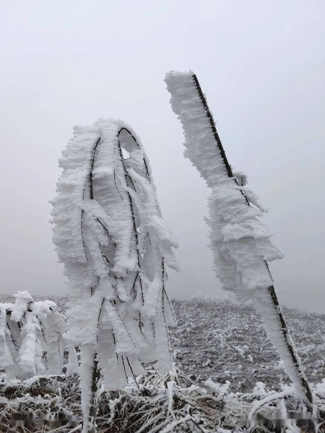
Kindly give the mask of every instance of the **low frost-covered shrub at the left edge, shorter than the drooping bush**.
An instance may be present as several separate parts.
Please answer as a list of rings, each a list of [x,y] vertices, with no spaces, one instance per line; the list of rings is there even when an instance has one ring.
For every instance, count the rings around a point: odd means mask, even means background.
[[[34,302],[27,291],[15,296],[15,304],[0,304],[0,370],[6,380],[61,374],[66,325],[55,302]]]

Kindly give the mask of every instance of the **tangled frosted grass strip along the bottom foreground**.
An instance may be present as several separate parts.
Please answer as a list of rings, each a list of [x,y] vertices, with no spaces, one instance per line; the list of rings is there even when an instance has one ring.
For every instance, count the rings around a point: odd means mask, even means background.
[[[149,371],[145,376],[129,378],[129,384],[119,391],[100,388],[97,429],[100,432],[148,433],[180,432],[311,432],[314,427],[287,426],[281,429],[261,425],[248,426],[242,417],[266,414],[281,417],[284,410],[301,414],[302,407],[293,387],[283,386],[280,392],[258,382],[251,393],[229,392],[229,383],[206,381],[206,387],[195,385],[178,368],[168,373]],[[325,382],[313,387],[319,409],[325,410]],[[74,417],[69,426],[43,425],[12,427],[14,414],[33,414],[48,419]],[[0,431],[32,433],[55,431],[80,432],[82,426],[79,377],[74,375],[36,376],[25,381],[4,383],[0,376]],[[323,423],[320,419],[318,423]],[[249,424],[249,423],[248,423]],[[324,424],[320,425],[319,431]],[[74,430],[75,429],[75,430]],[[288,430],[286,430],[288,429]],[[291,430],[289,430],[291,429]]]

